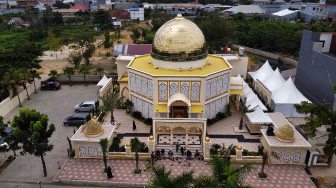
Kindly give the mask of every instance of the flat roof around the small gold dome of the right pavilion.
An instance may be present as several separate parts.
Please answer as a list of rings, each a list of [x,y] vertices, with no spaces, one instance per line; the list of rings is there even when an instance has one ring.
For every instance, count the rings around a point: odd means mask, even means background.
[[[274,129],[278,128],[280,125],[289,124],[293,126],[281,113],[266,113],[272,120]],[[270,146],[277,147],[305,147],[310,148],[311,145],[308,141],[304,139],[302,135],[293,127],[295,139],[292,142],[282,142],[275,138],[275,136],[267,136],[267,129],[261,129],[261,134],[269,142]]]

